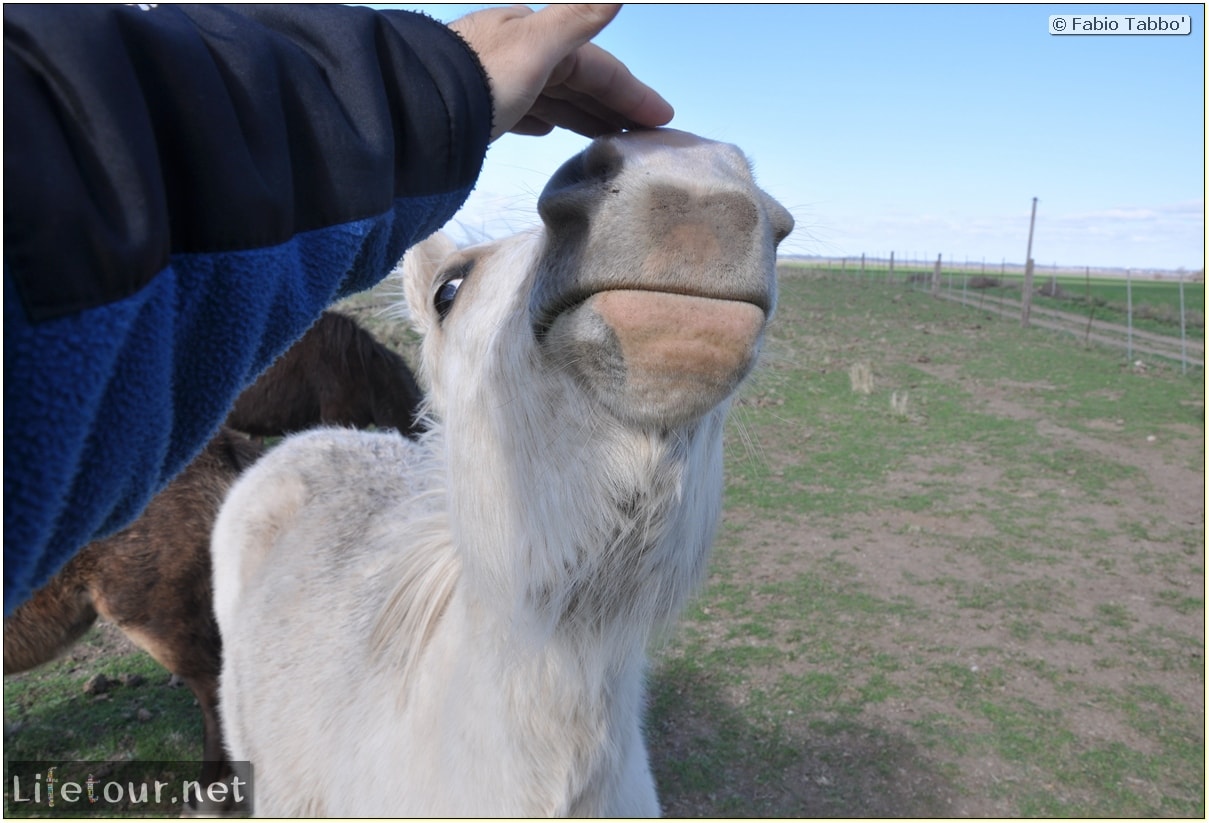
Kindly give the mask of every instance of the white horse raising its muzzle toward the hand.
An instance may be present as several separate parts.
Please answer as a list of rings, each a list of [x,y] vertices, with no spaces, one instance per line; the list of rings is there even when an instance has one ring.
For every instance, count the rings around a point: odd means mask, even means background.
[[[656,816],[646,647],[702,576],[788,211],[730,145],[601,138],[543,226],[411,267],[430,429],[291,437],[215,527],[258,815]]]

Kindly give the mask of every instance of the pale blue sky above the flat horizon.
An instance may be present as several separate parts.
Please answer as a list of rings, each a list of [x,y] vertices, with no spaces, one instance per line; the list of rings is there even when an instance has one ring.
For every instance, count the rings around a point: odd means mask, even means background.
[[[451,21],[482,6],[422,8]],[[1053,13],[1178,13],[1186,36],[1054,36]],[[1197,5],[627,5],[596,42],[739,145],[793,211],[789,254],[1204,267],[1204,15]],[[537,222],[586,140],[508,135],[456,218]]]

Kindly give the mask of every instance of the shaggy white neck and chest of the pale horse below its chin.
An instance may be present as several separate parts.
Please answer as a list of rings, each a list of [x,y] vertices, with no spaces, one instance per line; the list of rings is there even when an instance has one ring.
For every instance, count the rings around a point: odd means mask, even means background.
[[[493,407],[538,419],[511,400]],[[440,761],[462,764],[497,806],[526,787],[523,802],[498,807],[654,804],[636,765],[647,643],[702,573],[722,416],[673,435],[583,429],[566,415],[565,430],[540,435],[479,421],[451,436],[434,421],[422,436],[433,508],[409,526],[401,557],[417,569],[403,579],[415,585],[392,598],[381,650],[403,663],[407,721],[440,740]]]

